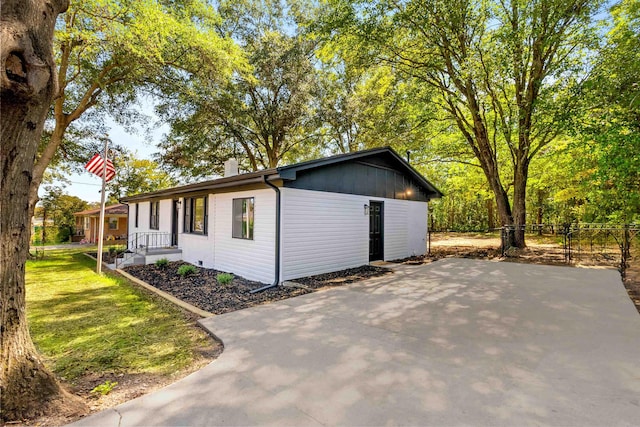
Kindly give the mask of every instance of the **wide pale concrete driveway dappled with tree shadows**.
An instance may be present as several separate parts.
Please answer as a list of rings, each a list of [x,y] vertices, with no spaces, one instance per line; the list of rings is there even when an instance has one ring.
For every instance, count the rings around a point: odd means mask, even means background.
[[[201,371],[76,425],[638,425],[612,270],[447,259],[204,320]]]

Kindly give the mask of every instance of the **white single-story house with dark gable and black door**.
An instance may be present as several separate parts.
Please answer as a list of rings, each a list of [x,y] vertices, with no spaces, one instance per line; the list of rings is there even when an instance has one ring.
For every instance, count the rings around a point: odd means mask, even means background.
[[[129,249],[278,283],[426,251],[427,202],[442,196],[376,148],[125,197]],[[277,280],[276,280],[277,279]]]

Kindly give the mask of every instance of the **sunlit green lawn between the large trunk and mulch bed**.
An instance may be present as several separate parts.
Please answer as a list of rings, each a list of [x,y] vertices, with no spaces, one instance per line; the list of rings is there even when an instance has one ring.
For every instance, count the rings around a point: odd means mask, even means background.
[[[171,374],[208,345],[173,305],[94,268],[68,249],[27,262],[31,336],[56,374],[71,382],[90,373]]]

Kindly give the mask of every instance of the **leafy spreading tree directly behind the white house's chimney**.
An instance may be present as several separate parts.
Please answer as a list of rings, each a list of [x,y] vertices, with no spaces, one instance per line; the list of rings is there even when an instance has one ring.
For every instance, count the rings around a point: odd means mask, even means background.
[[[220,172],[223,161],[240,157],[248,170],[275,167],[317,140],[313,92],[313,46],[298,36],[266,30],[244,46],[249,70],[216,84],[206,76],[186,86],[175,104],[161,144],[162,160],[192,176]]]

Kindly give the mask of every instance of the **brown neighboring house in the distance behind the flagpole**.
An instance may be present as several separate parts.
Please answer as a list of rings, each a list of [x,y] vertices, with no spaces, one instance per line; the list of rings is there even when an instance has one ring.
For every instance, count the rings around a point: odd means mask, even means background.
[[[104,240],[127,239],[127,213],[128,206],[123,204],[104,208]],[[76,217],[73,241],[96,243],[99,234],[100,208],[76,212],[73,215]]]

